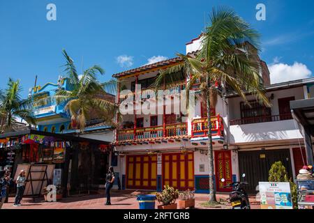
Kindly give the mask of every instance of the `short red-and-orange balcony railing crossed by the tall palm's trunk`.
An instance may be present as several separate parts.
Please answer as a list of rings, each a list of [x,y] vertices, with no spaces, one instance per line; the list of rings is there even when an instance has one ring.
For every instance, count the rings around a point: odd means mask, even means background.
[[[192,137],[206,137],[208,135],[207,118],[197,118],[192,121]],[[212,136],[223,136],[223,118],[219,115],[211,117]]]

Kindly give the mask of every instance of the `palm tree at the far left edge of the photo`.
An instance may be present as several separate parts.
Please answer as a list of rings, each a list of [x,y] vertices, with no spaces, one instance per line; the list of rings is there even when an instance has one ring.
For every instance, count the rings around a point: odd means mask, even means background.
[[[22,100],[20,92],[20,80],[8,79],[8,87],[4,92],[0,92],[0,132],[13,130],[17,117],[35,124],[31,103],[29,100]]]

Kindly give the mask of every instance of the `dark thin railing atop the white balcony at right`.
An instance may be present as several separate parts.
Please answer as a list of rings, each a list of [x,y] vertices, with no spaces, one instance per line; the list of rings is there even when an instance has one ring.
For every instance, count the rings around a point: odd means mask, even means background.
[[[250,117],[250,118],[239,118],[230,120],[230,125],[245,125],[245,124],[252,124],[252,123],[265,123],[270,121],[283,121],[292,119],[291,113],[288,114],[278,114],[275,116],[257,116],[257,117]]]

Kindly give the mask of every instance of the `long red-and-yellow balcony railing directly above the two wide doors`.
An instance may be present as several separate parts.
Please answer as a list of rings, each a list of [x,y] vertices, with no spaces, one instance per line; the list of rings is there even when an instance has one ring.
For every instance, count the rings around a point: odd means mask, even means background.
[[[188,134],[188,125],[187,123],[175,123],[165,126],[158,125],[146,128],[128,128],[124,130],[118,130],[117,134],[117,141],[177,137]]]

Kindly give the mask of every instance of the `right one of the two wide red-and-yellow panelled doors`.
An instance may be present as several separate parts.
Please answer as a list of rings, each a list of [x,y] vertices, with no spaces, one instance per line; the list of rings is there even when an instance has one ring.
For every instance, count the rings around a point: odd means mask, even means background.
[[[194,190],[193,153],[167,153],[162,156],[163,185],[178,190]]]

